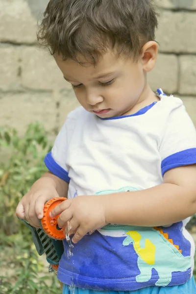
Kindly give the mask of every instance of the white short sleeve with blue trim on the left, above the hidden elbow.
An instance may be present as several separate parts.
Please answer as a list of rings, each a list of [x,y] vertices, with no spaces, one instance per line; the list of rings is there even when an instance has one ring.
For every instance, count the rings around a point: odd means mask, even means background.
[[[66,182],[70,182],[69,168],[66,164],[69,143],[73,134],[75,125],[75,113],[71,112],[59,134],[56,137],[52,150],[46,155],[44,162],[50,172]]]

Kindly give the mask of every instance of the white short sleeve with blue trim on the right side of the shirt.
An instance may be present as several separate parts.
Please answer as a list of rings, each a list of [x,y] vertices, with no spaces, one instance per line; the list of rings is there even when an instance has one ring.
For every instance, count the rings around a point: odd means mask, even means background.
[[[159,152],[162,175],[177,167],[196,164],[196,129],[182,101],[168,116]]]

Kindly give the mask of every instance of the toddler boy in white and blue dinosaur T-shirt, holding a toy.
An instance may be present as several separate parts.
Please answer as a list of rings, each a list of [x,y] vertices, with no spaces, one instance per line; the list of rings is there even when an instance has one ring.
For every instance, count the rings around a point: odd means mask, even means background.
[[[50,0],[46,9],[39,40],[82,107],[16,212],[39,226],[44,203],[68,196],[51,212],[75,232],[74,264],[63,254],[58,270],[63,293],[72,282],[85,293],[196,293],[185,229],[196,212],[196,130],[180,99],[147,83],[156,26],[150,0]]]

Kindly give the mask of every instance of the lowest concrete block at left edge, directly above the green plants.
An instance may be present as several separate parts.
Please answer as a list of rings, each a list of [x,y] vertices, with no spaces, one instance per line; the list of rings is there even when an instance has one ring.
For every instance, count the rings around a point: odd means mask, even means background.
[[[0,125],[24,134],[29,123],[40,122],[51,134],[57,127],[56,102],[51,93],[0,94]]]

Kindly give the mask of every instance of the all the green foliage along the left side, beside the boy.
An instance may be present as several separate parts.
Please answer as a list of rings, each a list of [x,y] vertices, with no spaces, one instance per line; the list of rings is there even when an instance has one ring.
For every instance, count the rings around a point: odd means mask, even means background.
[[[0,294],[60,293],[55,274],[42,274],[30,230],[15,216],[20,199],[47,171],[44,156],[50,149],[39,123],[30,124],[23,138],[15,129],[0,128],[0,152],[7,154],[0,163]]]

